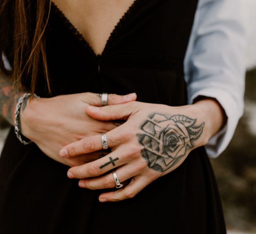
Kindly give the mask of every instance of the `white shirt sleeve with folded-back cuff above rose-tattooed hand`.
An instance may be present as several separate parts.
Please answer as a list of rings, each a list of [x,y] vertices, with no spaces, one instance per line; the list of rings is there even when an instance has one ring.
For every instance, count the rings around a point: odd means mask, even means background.
[[[228,146],[243,114],[246,35],[244,0],[199,0],[184,60],[188,102],[197,96],[216,98],[227,124],[206,145],[215,158]]]

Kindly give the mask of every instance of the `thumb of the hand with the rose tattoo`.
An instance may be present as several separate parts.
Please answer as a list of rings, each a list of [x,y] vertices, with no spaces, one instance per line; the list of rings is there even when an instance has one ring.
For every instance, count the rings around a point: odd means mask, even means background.
[[[87,106],[86,113],[94,119],[103,121],[127,119],[135,111],[135,103],[136,102],[129,102],[103,107]]]

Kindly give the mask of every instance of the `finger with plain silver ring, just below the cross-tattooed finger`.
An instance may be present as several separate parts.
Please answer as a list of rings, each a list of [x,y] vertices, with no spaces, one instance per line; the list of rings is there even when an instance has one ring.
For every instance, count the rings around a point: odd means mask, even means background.
[[[119,182],[122,183],[123,181],[128,180],[134,177],[135,175],[139,174],[139,169],[140,168],[136,168],[135,166],[131,168],[131,166],[128,164],[118,167],[116,170],[116,174]],[[78,185],[81,188],[88,188],[90,190],[114,188],[116,186],[112,172],[110,172],[107,175],[103,175],[102,177],[81,179]]]

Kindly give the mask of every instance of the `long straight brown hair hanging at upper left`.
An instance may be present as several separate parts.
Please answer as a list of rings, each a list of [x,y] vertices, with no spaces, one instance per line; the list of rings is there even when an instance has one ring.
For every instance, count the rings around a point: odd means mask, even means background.
[[[0,70],[19,90],[23,79],[29,78],[30,92],[34,93],[42,69],[50,92],[45,48],[50,4],[50,0],[0,0]],[[2,54],[11,63],[11,71],[5,69]]]

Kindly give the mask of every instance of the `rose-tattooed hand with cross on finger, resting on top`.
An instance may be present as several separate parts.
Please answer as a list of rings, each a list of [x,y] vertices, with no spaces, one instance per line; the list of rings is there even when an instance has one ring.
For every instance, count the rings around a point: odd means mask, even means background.
[[[211,100],[180,107],[130,102],[102,108],[88,106],[86,111],[99,120],[127,119],[106,133],[111,153],[68,171],[69,178],[81,179],[79,186],[89,189],[115,187],[110,173],[113,168],[120,183],[132,178],[126,187],[101,194],[102,202],[134,197],[153,180],[180,166],[189,152],[206,144],[222,124],[221,110]],[[69,144],[62,151],[67,152],[66,157],[74,157],[100,149],[98,134]]]

